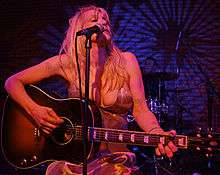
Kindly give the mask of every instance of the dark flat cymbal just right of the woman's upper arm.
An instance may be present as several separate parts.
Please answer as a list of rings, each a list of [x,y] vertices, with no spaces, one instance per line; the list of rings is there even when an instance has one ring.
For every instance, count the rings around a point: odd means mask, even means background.
[[[174,72],[149,72],[142,73],[143,77],[146,79],[170,81],[178,78],[178,74]]]

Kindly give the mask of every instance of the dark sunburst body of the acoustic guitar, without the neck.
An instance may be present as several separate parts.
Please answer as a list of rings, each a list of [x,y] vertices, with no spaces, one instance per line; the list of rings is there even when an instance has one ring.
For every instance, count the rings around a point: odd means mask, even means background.
[[[83,160],[82,140],[76,139],[76,133],[68,130],[82,123],[80,100],[55,99],[35,86],[27,86],[26,90],[36,103],[51,107],[65,122],[52,136],[45,136],[26,111],[8,97],[1,123],[1,148],[6,160],[19,169],[32,168],[54,160],[80,164]],[[100,127],[101,115],[95,104],[90,103],[88,112],[88,125]],[[88,159],[98,150],[98,146],[92,141],[88,143]]]

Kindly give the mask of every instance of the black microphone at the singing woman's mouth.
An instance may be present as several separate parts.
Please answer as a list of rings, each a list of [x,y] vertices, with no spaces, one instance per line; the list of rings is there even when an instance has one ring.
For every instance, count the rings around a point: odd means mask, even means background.
[[[86,35],[86,36],[91,36],[94,33],[100,34],[104,32],[104,27],[100,24],[96,24],[92,27],[80,30],[76,33],[76,35],[81,36],[81,35]]]

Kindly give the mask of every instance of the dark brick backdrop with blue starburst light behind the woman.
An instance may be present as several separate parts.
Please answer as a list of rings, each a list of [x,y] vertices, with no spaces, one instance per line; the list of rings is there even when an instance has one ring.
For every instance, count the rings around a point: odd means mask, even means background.
[[[162,116],[166,120],[166,129],[174,128],[179,134],[191,134],[197,127],[220,129],[218,0],[2,0],[1,112],[7,95],[3,88],[6,78],[57,54],[68,19],[78,7],[89,4],[108,11],[115,43],[137,56],[143,72],[146,99],[158,98],[158,77],[153,73],[165,75],[168,72],[168,76],[162,79],[161,97],[168,106],[168,113]],[[66,96],[62,82],[47,81],[43,86],[50,92]],[[140,151],[145,152],[142,148]],[[195,161],[191,164],[193,166],[187,167],[186,158]],[[211,170],[206,168],[205,158],[196,156],[192,159],[189,153],[177,155],[175,163],[176,168],[168,168],[173,174],[180,174],[184,167],[190,173],[217,174],[215,166]],[[149,161],[147,164],[151,165]],[[3,158],[0,160],[0,174],[15,174]]]

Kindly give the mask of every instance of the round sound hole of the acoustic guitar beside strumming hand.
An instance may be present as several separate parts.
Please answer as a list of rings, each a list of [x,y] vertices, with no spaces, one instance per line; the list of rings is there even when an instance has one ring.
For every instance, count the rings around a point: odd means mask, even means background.
[[[71,142],[74,137],[74,125],[68,119],[63,117],[64,122],[62,125],[53,131],[52,140],[58,145],[65,145]]]

